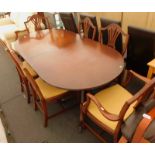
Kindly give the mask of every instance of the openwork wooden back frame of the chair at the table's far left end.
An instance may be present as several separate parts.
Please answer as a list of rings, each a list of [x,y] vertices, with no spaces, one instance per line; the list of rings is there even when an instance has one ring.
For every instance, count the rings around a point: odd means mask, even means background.
[[[25,27],[26,27],[26,30],[27,30],[28,32],[30,32],[30,31],[29,31],[29,28],[28,28],[28,26],[27,26],[27,24],[28,24],[29,22],[32,22],[32,23],[34,24],[34,26],[35,26],[35,31],[42,30],[42,25],[41,25],[42,23],[43,23],[45,26],[47,26],[48,29],[51,29],[51,25],[50,25],[50,23],[49,23],[49,21],[48,21],[48,18],[47,18],[47,17],[44,17],[44,16],[40,16],[40,15],[38,15],[38,14],[34,14],[34,15],[28,17],[28,18],[27,18],[27,21],[24,22]],[[45,23],[44,23],[44,22],[45,22]]]

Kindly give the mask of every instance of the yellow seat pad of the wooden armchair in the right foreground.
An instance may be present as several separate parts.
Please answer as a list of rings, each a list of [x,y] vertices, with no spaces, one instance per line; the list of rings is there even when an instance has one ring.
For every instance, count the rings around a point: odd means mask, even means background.
[[[119,95],[118,95],[119,94]],[[102,106],[110,113],[118,115],[121,111],[125,101],[132,97],[126,89],[124,89],[119,84],[106,88],[95,95],[95,97],[100,101]],[[136,102],[135,102],[136,103]],[[135,103],[133,105],[135,105]],[[113,106],[113,108],[111,107]],[[89,113],[99,120],[102,124],[110,127],[113,131],[117,126],[117,121],[110,121],[106,119],[98,110],[95,103],[92,101],[88,106]],[[130,106],[124,119],[126,119],[133,112],[133,106]]]

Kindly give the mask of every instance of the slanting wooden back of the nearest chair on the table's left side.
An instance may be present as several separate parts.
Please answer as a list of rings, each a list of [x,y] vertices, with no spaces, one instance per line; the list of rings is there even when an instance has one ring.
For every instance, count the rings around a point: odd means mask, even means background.
[[[32,90],[33,90],[33,93],[34,93],[34,97],[36,97],[36,94],[37,94],[39,99],[41,101],[44,101],[44,97],[43,97],[43,95],[42,95],[42,93],[41,93],[37,83],[35,82],[35,79],[33,79],[33,77],[31,76],[31,74],[29,73],[29,71],[26,68],[24,68],[24,72],[26,74],[26,78],[27,78],[28,82],[30,83],[30,85],[32,87]]]

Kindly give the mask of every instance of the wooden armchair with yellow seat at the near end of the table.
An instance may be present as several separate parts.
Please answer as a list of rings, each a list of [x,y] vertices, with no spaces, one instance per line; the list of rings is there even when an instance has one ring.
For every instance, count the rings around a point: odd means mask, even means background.
[[[117,142],[124,120],[154,90],[155,79],[150,81],[133,71],[128,71],[127,75],[121,85],[114,84],[95,95],[88,93],[87,100],[81,104],[81,125],[101,141]]]

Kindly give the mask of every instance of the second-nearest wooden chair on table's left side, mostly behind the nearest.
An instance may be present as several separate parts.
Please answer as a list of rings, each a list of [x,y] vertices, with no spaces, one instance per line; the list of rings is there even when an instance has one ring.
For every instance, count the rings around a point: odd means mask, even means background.
[[[23,61],[23,62],[21,61],[21,59],[18,57],[16,52],[12,50],[12,51],[9,51],[9,54],[13,62],[15,63],[15,66],[19,75],[21,91],[24,92],[24,90],[26,90],[27,102],[30,103],[30,97],[31,97],[30,89],[23,70],[24,68],[28,69],[33,78],[36,78],[38,75],[26,61]]]

